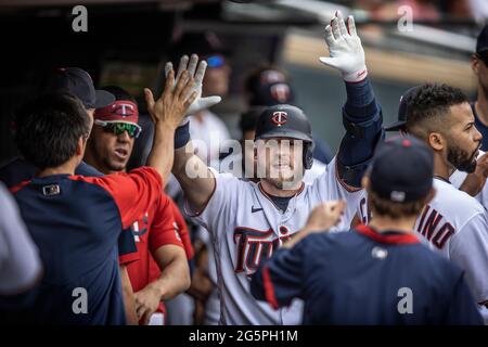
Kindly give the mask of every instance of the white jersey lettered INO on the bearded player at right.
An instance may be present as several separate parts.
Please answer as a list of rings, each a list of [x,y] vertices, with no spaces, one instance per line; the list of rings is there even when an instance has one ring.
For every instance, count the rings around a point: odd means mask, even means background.
[[[434,179],[436,195],[419,216],[414,230],[432,249],[466,271],[476,301],[488,300],[488,216],[472,196]],[[485,321],[488,310],[479,307]]]

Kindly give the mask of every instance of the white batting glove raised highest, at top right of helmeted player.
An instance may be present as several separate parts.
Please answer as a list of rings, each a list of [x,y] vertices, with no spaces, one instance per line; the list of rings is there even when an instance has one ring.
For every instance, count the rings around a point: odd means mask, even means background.
[[[336,12],[331,24],[325,27],[325,43],[331,56],[321,56],[323,64],[338,69],[348,82],[358,82],[367,77],[364,50],[351,15],[347,18],[346,27],[341,11]]]

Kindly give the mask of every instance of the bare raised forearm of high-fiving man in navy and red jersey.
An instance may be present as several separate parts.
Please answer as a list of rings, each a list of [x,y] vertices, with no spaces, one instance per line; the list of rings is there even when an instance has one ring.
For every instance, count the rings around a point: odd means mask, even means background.
[[[166,123],[158,121],[154,127],[154,139],[147,166],[155,168],[164,182],[167,181],[174,163],[175,128]]]

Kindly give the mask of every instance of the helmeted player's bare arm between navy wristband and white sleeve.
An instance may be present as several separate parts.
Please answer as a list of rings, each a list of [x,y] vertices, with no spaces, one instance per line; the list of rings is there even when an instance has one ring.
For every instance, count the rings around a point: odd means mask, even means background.
[[[192,209],[201,211],[214,193],[215,178],[207,165],[194,154],[191,142],[175,150],[172,174]]]

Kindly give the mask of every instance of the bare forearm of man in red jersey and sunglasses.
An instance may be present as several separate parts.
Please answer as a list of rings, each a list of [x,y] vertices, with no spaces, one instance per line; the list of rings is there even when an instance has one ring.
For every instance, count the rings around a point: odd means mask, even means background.
[[[190,287],[190,269],[184,250],[181,250],[170,259],[158,259],[158,265],[163,271],[159,278],[151,282],[150,285],[157,291],[162,300],[171,299]]]

